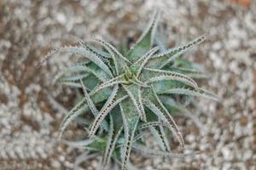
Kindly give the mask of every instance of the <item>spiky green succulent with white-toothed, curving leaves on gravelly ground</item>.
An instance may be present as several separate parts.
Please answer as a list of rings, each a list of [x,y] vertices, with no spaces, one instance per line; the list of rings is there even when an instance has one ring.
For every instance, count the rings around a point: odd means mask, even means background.
[[[159,13],[155,12],[142,36],[127,52],[120,53],[110,43],[94,38],[86,42],[79,40],[79,46],[55,49],[39,63],[42,65],[45,59],[59,52],[84,56],[84,61],[62,71],[57,79],[57,82],[81,89],[84,94],[61,123],[60,139],[74,119],[85,113],[93,115],[86,120],[85,139],[64,140],[85,148],[77,158],[77,165],[91,156],[102,156],[102,169],[108,168],[111,161],[122,169],[131,168],[131,150],[169,158],[190,155],[171,151],[170,134],[184,146],[172,114],[184,111],[188,105],[181,104],[181,99],[187,103],[196,96],[218,99],[199,88],[193,79],[205,77],[201,67],[181,58],[206,36],[177,48],[166,48],[155,36],[158,20]],[[148,130],[160,150],[150,149],[144,138]]]

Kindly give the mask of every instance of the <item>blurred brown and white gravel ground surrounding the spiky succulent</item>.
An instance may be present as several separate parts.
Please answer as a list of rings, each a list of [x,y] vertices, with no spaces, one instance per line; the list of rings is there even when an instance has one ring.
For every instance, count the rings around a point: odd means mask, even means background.
[[[115,46],[136,39],[154,8],[169,47],[207,33],[185,54],[205,65],[202,86],[222,99],[198,100],[197,126],[178,117],[187,150],[201,154],[162,161],[133,155],[138,169],[256,169],[256,1],[254,0],[1,0],[0,169],[73,169],[79,151],[56,141],[72,89],[53,85],[61,68],[78,58],[67,54],[35,65],[52,48],[96,35]],[[253,124],[254,123],[254,124]],[[68,134],[79,134],[72,123]],[[91,159],[81,169],[93,170]]]

